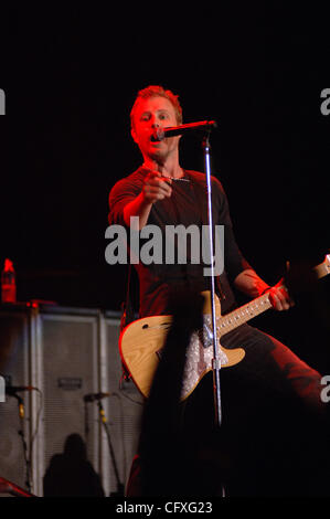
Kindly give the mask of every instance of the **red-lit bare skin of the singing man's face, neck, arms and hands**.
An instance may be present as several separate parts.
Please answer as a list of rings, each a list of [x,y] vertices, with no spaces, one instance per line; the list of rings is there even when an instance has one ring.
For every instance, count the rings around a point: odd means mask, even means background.
[[[166,97],[156,96],[139,100],[135,112],[131,136],[140,148],[143,166],[149,170],[149,173],[145,178],[140,194],[125,206],[124,219],[128,226],[130,218],[138,216],[141,230],[148,222],[153,203],[170,198],[172,194],[171,180],[166,181],[166,178],[183,176],[179,163],[180,137],[166,138],[160,142],[150,140],[156,128],[177,125],[174,108]],[[234,284],[241,292],[253,298],[269,288],[269,300],[273,307],[279,311],[287,310],[292,305],[288,293],[279,288],[281,280],[275,287],[269,287],[253,269],[245,269],[238,274]]]

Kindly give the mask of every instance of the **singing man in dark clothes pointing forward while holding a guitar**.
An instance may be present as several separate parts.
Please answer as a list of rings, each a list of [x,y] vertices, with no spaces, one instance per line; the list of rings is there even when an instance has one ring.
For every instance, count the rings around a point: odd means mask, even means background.
[[[206,197],[205,176],[180,165],[180,136],[162,140],[155,138],[158,129],[182,124],[178,96],[161,86],[148,86],[138,93],[130,118],[131,136],[143,162],[111,189],[109,223],[129,229],[131,216],[137,216],[139,230],[153,224],[162,231],[166,225],[181,223],[188,227],[206,223],[203,201]],[[236,307],[234,289],[251,298],[268,292],[276,310],[289,309],[291,301],[287,290],[279,284],[268,286],[239,251],[227,198],[215,177],[212,177],[212,193],[213,223],[224,225],[224,271],[216,283],[222,315]],[[210,287],[210,278],[203,275],[202,264],[140,262],[135,267],[139,277],[140,317],[169,315],[171,295],[179,288],[204,290]],[[222,370],[221,374],[223,424],[220,437],[226,445],[222,444],[217,456],[220,465],[222,455],[223,459],[230,459],[230,463],[224,463],[230,468],[221,468],[228,495],[290,495],[291,480],[296,481],[295,492],[317,494],[320,487],[313,488],[313,481],[319,457],[310,456],[311,462],[309,453],[315,448],[315,437],[319,434],[318,417],[324,406],[320,400],[320,374],[277,339],[247,324],[222,337],[221,343],[225,348],[241,347],[245,350],[243,361]],[[219,435],[214,435],[212,381],[209,375],[189,396],[184,410],[185,424],[195,431],[200,452],[205,454],[210,446],[216,451]],[[296,414],[300,416],[298,411],[307,422],[302,419],[299,422],[296,417]],[[298,423],[305,424],[305,431],[298,430]],[[295,424],[297,431],[294,433]],[[311,434],[308,438],[305,433],[309,428]],[[297,443],[296,434],[299,436]],[[298,448],[300,441],[301,453]],[[287,452],[292,454],[295,460],[290,464],[286,458],[284,465],[279,464],[284,467],[280,477],[278,473],[273,477],[273,464],[277,464],[278,457]],[[202,459],[203,455],[201,465]],[[299,467],[297,459],[301,465]],[[304,474],[302,486],[297,481],[299,473]],[[206,494],[207,485],[203,490]],[[135,481],[129,481],[128,488],[134,488],[132,494],[138,494]],[[211,481],[209,489],[211,494],[216,491]]]

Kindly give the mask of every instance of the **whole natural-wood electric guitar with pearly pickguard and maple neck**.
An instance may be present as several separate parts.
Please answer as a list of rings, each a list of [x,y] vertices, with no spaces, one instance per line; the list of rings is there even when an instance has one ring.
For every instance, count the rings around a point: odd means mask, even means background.
[[[320,265],[315,267],[315,271],[319,278],[330,273],[330,254],[326,256],[326,260]],[[202,333],[199,331],[192,333],[187,349],[181,400],[187,399],[204,374],[212,370],[211,294],[204,292],[203,296],[203,330]],[[272,308],[272,303],[268,293],[266,293],[234,311],[221,316],[220,300],[216,297],[215,314],[219,339],[269,308]],[[149,395],[161,350],[164,346],[171,324],[171,316],[145,317],[128,325],[120,336],[119,349],[123,362],[131,374],[138,390],[146,398]],[[245,356],[245,351],[242,348],[228,350],[220,345],[219,354],[221,367],[228,368],[241,362]]]

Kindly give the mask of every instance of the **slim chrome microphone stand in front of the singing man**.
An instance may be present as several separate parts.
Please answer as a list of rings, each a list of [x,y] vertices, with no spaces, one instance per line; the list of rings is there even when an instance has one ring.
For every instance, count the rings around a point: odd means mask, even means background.
[[[220,426],[222,423],[222,410],[221,410],[221,382],[220,382],[220,370],[221,370],[221,358],[219,353],[219,342],[216,332],[216,314],[215,314],[215,284],[214,284],[214,264],[213,264],[213,219],[212,219],[212,187],[211,187],[211,160],[210,160],[210,133],[211,128],[207,129],[204,135],[202,148],[204,152],[204,167],[206,174],[207,186],[207,223],[209,223],[209,241],[210,241],[210,258],[211,258],[211,308],[212,308],[212,331],[213,331],[213,392],[214,392],[214,406],[215,406],[215,423]]]

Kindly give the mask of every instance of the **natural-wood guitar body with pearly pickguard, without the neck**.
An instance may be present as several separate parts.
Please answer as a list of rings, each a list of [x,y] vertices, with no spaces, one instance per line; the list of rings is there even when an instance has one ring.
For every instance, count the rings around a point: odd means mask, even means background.
[[[187,399],[199,384],[205,373],[212,370],[212,313],[211,294],[204,296],[204,329],[203,332],[193,332],[187,349],[187,361],[182,380],[181,400]],[[221,318],[220,301],[215,299],[216,320]],[[119,349],[123,362],[128,369],[138,390],[148,398],[157,370],[161,349],[164,346],[167,333],[172,324],[172,316],[152,316],[138,319],[128,325],[121,333]],[[217,329],[217,336],[220,331]],[[235,366],[245,356],[242,348],[228,350],[219,348],[221,367]]]

